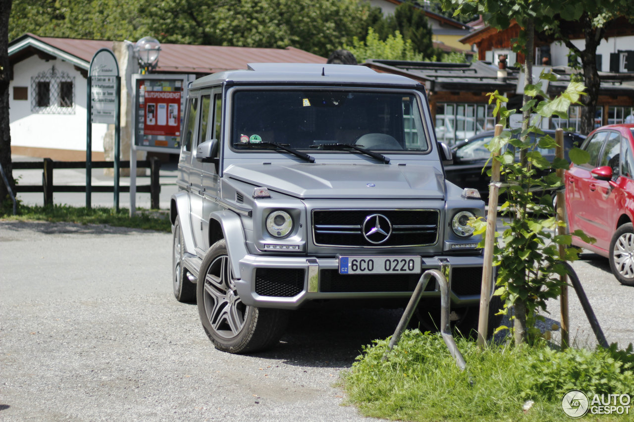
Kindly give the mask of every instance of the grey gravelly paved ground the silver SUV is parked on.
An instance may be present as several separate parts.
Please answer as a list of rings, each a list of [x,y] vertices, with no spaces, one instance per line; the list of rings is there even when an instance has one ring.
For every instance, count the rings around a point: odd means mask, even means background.
[[[1,420],[372,420],[340,406],[335,383],[398,312],[304,311],[269,352],[218,352],[195,305],[172,296],[170,245],[165,233],[0,222]],[[634,288],[594,255],[574,266],[609,342],[634,342]],[[593,343],[571,302],[573,336]]]

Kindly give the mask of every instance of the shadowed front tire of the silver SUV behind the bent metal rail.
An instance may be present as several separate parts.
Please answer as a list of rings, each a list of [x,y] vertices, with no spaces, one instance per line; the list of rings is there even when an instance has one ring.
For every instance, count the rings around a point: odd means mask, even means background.
[[[493,335],[502,319],[501,315],[495,315],[498,310],[501,309],[500,297],[494,296],[489,302],[489,323],[487,326],[486,337],[489,338]],[[418,328],[422,331],[440,331],[440,299],[428,299],[421,300],[420,304],[414,313],[413,323],[414,326],[418,324]],[[474,305],[470,307],[456,307],[451,308],[451,317],[455,318],[451,321],[452,331],[457,331],[460,335],[468,338],[477,338],[477,326],[480,315],[480,305]]]

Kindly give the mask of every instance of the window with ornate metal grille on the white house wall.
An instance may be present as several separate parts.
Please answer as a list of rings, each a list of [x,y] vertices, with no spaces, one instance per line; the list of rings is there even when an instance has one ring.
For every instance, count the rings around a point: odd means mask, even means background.
[[[31,77],[31,111],[41,114],[75,114],[75,77],[55,66]]]

